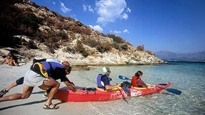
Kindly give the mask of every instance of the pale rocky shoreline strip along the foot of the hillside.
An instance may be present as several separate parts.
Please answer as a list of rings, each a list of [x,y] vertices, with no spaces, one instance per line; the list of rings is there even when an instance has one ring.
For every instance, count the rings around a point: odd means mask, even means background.
[[[125,65],[155,65],[155,64],[165,64],[167,62],[147,54],[146,52],[138,52],[138,56],[133,54],[123,54],[120,53],[103,53],[98,55],[83,57],[81,54],[63,52],[62,49],[56,50],[55,53],[47,53],[39,49],[13,49],[13,48],[1,48],[0,56],[3,60],[10,52],[17,52],[15,56],[18,58],[19,63],[27,63],[32,61],[33,58],[53,58],[59,61],[68,60],[72,66],[75,68],[88,69],[89,66],[125,66]],[[140,57],[140,55],[141,57]],[[138,59],[136,58],[138,57]]]

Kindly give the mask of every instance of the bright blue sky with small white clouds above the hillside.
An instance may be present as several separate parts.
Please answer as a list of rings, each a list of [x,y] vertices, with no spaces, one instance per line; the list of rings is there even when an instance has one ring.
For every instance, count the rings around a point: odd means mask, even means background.
[[[133,46],[205,51],[205,0],[31,0]]]

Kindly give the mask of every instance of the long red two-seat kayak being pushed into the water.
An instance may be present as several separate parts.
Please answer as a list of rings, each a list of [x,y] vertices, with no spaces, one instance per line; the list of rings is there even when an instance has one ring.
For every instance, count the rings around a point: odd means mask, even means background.
[[[67,89],[59,89],[55,98],[63,102],[109,101],[126,97],[142,96],[158,93],[168,88],[171,83],[149,85],[148,88],[131,87],[128,96],[123,88],[115,91],[104,91],[99,88],[79,88],[76,92]]]

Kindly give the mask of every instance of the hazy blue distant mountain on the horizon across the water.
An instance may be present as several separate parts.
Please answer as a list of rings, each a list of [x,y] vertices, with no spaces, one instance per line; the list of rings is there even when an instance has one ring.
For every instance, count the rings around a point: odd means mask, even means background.
[[[190,53],[176,53],[171,51],[155,52],[156,56],[165,61],[192,61],[205,62],[205,51],[190,52]]]

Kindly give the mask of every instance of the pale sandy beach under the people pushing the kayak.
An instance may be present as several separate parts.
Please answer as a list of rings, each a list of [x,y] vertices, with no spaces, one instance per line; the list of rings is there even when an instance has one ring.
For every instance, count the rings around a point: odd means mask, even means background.
[[[27,63],[22,66],[9,66],[7,64],[0,65],[0,88],[3,89],[14,82],[16,79],[24,76],[26,71],[29,69],[31,63]],[[76,85],[86,84],[86,82],[80,80],[76,77],[76,72],[73,71],[68,77],[71,81],[76,83]],[[82,81],[82,82],[79,82]],[[93,85],[87,83],[87,85]],[[62,83],[61,87],[65,85]],[[11,89],[6,95],[22,92],[23,85],[17,86]],[[93,111],[92,107],[89,106],[89,102],[86,103],[61,103],[60,101],[54,99],[53,103],[58,103],[60,108],[57,110],[45,110],[43,105],[46,98],[43,97],[43,91],[38,87],[34,88],[33,93],[28,99],[24,100],[14,100],[0,102],[0,115],[90,115],[99,114]],[[92,105],[90,105],[92,106]]]

